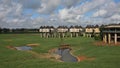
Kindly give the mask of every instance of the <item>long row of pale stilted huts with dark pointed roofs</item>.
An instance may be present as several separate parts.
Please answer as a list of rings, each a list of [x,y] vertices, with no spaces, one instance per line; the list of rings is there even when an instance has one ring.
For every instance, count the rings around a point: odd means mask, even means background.
[[[53,26],[41,26],[39,29],[41,33],[41,37],[78,37],[78,36],[86,36],[92,37],[92,35],[99,35],[100,30],[99,26],[86,26],[84,29],[81,26],[58,26],[54,28]]]

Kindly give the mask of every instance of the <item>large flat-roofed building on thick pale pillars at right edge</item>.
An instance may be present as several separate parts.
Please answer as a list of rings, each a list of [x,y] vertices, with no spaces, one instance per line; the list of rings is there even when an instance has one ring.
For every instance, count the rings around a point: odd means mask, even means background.
[[[112,24],[104,26],[103,30],[103,42],[111,44],[117,44],[120,42],[120,24]]]

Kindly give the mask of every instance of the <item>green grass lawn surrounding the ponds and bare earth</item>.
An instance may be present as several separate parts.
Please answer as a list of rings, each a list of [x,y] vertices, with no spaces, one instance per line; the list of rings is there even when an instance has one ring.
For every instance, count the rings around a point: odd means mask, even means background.
[[[65,63],[36,58],[25,51],[7,49],[6,46],[22,46],[38,43],[37,53],[47,53],[61,44],[59,38],[41,38],[37,34],[0,34],[0,68],[119,68],[120,46],[95,46],[92,38],[64,38],[62,43],[70,44],[75,56],[94,57],[92,61]]]

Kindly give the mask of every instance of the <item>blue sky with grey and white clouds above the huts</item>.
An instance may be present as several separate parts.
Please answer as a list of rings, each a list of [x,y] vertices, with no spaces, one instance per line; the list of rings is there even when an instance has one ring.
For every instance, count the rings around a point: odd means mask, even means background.
[[[120,22],[120,0],[0,0],[0,27]]]

